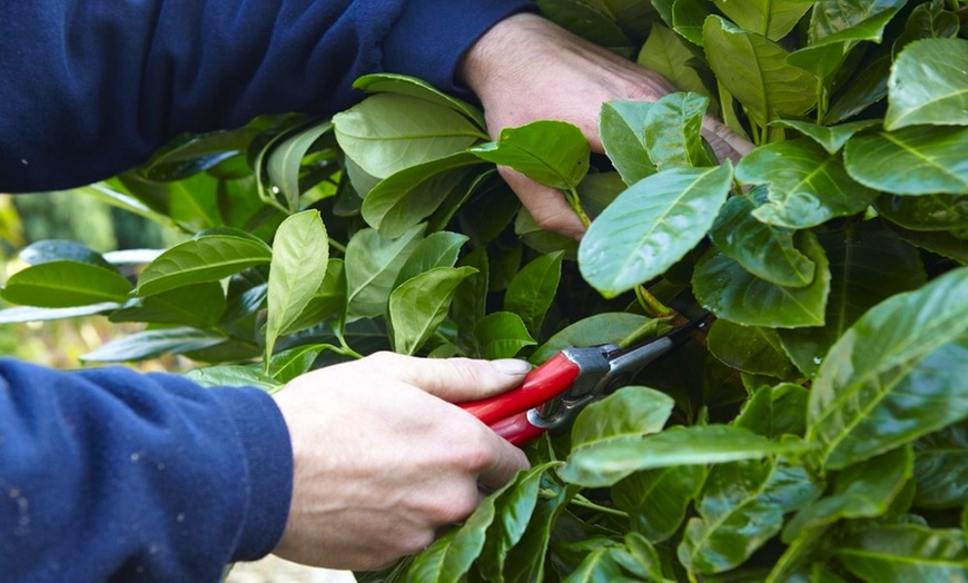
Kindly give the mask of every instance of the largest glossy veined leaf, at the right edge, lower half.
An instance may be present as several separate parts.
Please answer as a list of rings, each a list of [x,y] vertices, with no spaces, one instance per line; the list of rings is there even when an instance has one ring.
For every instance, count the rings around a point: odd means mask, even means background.
[[[865,314],[810,392],[807,435],[822,463],[847,467],[968,415],[966,332],[968,268]]]

